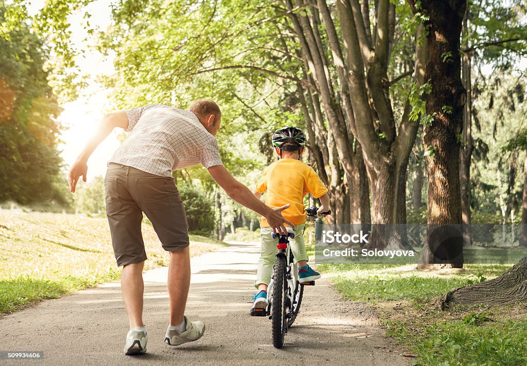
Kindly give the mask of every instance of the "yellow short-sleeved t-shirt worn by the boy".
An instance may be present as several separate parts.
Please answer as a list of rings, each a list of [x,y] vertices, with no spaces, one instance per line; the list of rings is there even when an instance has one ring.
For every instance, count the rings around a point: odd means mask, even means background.
[[[308,193],[315,198],[324,196],[328,189],[315,170],[296,159],[280,159],[264,169],[264,175],[256,184],[256,191],[267,191],[265,203],[269,207],[290,206],[282,216],[294,225],[306,222],[304,196]],[[260,217],[262,227],[269,226],[265,217]]]

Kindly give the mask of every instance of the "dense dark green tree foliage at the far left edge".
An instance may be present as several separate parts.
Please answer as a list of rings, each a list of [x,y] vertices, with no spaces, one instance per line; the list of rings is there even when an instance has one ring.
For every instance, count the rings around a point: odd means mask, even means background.
[[[0,7],[0,21],[5,8]],[[44,71],[43,42],[24,23],[0,37],[0,202],[67,205],[60,174],[60,113]]]

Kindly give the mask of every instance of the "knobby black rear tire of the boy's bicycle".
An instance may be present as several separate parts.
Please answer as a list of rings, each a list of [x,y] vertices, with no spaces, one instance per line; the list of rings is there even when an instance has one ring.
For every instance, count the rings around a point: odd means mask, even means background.
[[[284,335],[287,330],[286,323],[286,258],[278,257],[273,273],[274,286],[272,288],[272,344],[276,348],[284,345]]]

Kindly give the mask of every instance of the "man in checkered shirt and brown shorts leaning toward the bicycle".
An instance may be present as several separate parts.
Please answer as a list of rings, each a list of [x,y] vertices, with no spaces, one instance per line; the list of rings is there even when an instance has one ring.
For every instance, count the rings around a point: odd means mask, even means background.
[[[285,233],[281,215],[289,207],[271,209],[223,167],[216,133],[221,112],[211,100],[197,100],[189,110],[155,104],[111,113],[101,121],[70,170],[70,190],[75,192],[87,160],[115,127],[131,132],[109,161],[104,179],[106,215],[118,266],[123,266],[121,291],[130,321],[124,353],[147,350],[147,330],[142,320],[143,265],[147,256],[141,235],[142,213],[149,218],[163,248],[170,252],[168,291],[170,325],[165,342],[179,345],[199,339],[205,325],[184,316],[190,285],[189,237],[183,204],[172,171],[202,164],[229,197],[264,216],[272,230]]]

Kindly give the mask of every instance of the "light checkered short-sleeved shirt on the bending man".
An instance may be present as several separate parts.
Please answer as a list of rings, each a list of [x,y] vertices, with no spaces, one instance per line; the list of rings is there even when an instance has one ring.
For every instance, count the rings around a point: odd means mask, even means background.
[[[202,164],[222,165],[216,138],[188,110],[153,104],[125,110],[128,128],[124,143],[110,162],[162,177]]]

